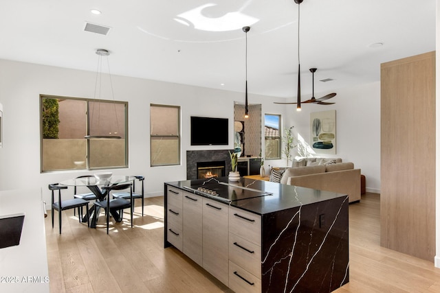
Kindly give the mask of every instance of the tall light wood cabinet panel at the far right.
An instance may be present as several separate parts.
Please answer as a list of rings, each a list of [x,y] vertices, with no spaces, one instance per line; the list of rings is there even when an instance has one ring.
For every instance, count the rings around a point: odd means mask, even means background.
[[[381,246],[434,261],[435,52],[381,65]]]

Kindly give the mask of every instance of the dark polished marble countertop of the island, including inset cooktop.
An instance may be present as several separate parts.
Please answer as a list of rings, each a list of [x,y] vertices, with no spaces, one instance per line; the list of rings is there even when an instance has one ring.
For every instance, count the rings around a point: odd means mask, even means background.
[[[347,196],[250,178],[240,178],[239,182],[228,181],[228,177],[221,177],[165,184],[259,215]]]

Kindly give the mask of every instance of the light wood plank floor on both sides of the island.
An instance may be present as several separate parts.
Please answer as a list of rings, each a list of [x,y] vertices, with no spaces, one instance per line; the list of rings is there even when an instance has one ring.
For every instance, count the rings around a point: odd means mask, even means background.
[[[98,228],[89,229],[72,211],[63,212],[59,235],[49,213],[50,291],[230,292],[175,248],[163,248],[163,204],[162,197],[146,198],[146,215],[140,217],[136,207],[134,228],[127,218],[111,225],[109,235],[104,217]],[[378,194],[367,193],[349,206],[349,233],[350,282],[335,292],[440,292],[440,269],[432,262],[380,247]]]

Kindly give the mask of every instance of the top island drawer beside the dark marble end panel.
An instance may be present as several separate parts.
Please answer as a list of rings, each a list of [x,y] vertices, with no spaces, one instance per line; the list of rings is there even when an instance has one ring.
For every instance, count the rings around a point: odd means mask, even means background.
[[[229,207],[229,231],[261,246],[261,216]]]

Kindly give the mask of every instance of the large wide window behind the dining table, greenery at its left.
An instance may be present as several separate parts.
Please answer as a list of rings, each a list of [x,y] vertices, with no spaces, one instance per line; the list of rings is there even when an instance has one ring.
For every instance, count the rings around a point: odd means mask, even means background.
[[[127,102],[41,95],[40,104],[42,172],[128,166]]]

